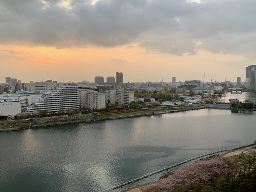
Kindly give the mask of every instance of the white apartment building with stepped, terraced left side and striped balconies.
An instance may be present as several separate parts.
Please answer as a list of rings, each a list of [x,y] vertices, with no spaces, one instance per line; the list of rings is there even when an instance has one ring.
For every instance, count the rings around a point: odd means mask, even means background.
[[[60,85],[56,91],[44,94],[38,103],[29,106],[26,113],[31,114],[40,110],[47,110],[48,113],[57,113],[65,109],[79,109],[77,86]]]

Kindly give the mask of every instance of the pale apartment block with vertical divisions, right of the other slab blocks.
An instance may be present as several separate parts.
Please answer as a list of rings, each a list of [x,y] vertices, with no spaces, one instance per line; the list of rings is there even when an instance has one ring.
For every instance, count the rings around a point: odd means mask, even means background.
[[[134,101],[134,92],[120,89],[110,89],[106,91],[106,101],[115,104],[118,102],[120,106],[129,105],[130,102]]]

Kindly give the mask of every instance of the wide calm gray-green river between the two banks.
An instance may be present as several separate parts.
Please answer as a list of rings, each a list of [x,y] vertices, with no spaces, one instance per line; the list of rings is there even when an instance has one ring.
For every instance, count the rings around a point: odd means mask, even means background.
[[[100,191],[251,144],[256,112],[202,109],[0,133],[0,191]]]

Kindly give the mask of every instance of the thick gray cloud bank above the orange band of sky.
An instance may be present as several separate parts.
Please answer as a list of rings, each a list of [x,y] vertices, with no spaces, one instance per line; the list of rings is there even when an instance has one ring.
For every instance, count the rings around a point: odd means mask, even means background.
[[[1,0],[0,43],[120,46],[181,55],[198,49],[252,56],[256,1]]]

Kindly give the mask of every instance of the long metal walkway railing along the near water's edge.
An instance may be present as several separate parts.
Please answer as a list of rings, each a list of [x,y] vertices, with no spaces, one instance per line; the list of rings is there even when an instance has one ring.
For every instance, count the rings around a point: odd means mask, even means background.
[[[111,187],[111,188],[109,188],[109,189],[102,190],[101,192],[108,192],[108,191],[112,191],[112,190],[117,189],[117,188],[122,188],[122,186],[125,186],[125,185],[127,185],[127,184],[130,184],[130,183],[133,183],[133,182],[142,180],[142,179],[147,178],[147,177],[149,177],[149,176],[152,176],[152,175],[154,175],[154,174],[157,174],[157,173],[160,173],[160,172],[162,172],[162,171],[165,171],[165,170],[174,168],[174,167],[176,167],[176,166],[180,166],[180,165],[182,165],[182,164],[184,164],[184,163],[191,162],[192,160],[196,160],[196,159],[199,159],[199,158],[202,158],[202,157],[205,157],[205,156],[210,156],[210,155],[212,156],[212,155],[214,155],[214,154],[218,154],[218,153],[221,153],[221,152],[229,152],[229,150],[228,150],[228,149],[222,149],[222,150],[218,150],[218,151],[206,153],[206,154],[203,154],[203,155],[200,155],[200,156],[196,156],[196,157],[190,158],[190,159],[188,159],[188,160],[182,161],[182,162],[180,162],[180,163],[174,164],[174,165],[172,165],[172,166],[169,166],[169,167],[160,169],[160,170],[155,171],[155,172],[152,172],[152,173],[150,173],[150,174],[146,174],[146,175],[144,175],[144,176],[138,177],[138,178],[133,179],[133,180],[130,180],[130,181],[128,181],[128,182],[125,182],[125,183],[119,184],[119,185],[117,185],[117,186]]]

